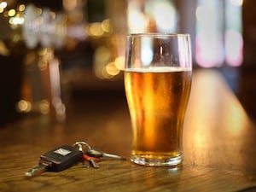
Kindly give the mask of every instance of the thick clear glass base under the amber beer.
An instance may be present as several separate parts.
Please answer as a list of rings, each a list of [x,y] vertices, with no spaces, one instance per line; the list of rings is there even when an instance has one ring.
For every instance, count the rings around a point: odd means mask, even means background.
[[[183,154],[172,158],[147,158],[131,154],[131,162],[142,166],[178,166],[183,161]]]

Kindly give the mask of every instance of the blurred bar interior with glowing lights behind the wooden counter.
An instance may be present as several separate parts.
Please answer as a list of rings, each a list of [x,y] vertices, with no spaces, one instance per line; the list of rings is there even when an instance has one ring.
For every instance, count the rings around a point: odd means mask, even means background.
[[[218,70],[256,118],[253,0],[0,0],[0,125],[124,95],[125,36],[189,33],[195,70]]]

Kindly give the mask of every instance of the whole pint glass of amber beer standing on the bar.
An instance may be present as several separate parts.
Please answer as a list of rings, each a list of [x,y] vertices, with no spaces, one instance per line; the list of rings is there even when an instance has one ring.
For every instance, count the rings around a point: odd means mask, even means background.
[[[180,165],[192,79],[189,34],[129,34],[124,73],[131,161],[144,166]]]

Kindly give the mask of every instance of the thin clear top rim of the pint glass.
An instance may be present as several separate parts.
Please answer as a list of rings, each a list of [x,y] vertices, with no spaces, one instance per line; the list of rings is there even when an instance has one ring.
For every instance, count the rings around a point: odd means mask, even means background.
[[[129,33],[127,37],[142,37],[142,38],[188,38],[189,33],[168,33],[168,32],[137,32]]]

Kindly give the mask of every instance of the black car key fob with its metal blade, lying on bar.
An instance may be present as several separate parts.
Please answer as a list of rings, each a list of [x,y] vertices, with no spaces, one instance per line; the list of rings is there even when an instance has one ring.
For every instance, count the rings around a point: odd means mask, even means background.
[[[69,145],[54,148],[41,155],[38,166],[25,173],[30,178],[43,172],[61,172],[83,160],[83,151]]]

